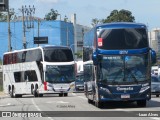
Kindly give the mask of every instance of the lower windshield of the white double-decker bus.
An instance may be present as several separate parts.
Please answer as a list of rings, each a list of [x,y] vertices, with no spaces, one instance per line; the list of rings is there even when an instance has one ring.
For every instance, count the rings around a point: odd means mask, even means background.
[[[46,82],[71,83],[75,80],[74,65],[47,65]]]

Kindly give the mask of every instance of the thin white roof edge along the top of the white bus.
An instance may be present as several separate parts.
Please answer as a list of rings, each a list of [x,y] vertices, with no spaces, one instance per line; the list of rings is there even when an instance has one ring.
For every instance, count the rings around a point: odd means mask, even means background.
[[[28,51],[28,50],[36,50],[36,49],[47,49],[47,48],[68,48],[68,49],[70,49],[70,47],[68,47],[68,46],[46,45],[46,46],[39,46],[39,47],[34,47],[34,48],[14,50],[11,52],[5,52],[4,54],[17,53],[17,52],[23,52],[23,51]]]

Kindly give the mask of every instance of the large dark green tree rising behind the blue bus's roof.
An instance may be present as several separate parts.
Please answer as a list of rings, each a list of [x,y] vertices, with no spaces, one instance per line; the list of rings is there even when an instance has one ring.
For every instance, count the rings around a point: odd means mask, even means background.
[[[103,23],[109,22],[134,22],[135,18],[132,13],[128,10],[113,10],[110,15],[103,20]]]

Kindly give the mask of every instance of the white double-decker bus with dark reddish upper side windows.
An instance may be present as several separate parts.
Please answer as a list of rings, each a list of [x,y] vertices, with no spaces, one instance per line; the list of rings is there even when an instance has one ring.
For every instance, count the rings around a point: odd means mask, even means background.
[[[75,62],[67,46],[45,46],[4,53],[3,88],[11,97],[57,93],[68,96]]]

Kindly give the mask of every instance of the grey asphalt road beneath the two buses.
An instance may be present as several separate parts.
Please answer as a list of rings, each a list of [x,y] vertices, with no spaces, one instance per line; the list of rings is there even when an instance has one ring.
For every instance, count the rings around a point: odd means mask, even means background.
[[[84,93],[70,93],[68,97],[51,94],[40,98],[1,95],[0,111],[1,116],[3,114],[0,120],[160,120],[160,97],[152,96],[144,108],[137,107],[136,103],[107,102],[99,109],[88,104]],[[6,117],[10,113],[14,117]]]

